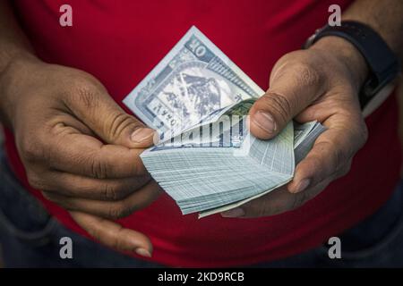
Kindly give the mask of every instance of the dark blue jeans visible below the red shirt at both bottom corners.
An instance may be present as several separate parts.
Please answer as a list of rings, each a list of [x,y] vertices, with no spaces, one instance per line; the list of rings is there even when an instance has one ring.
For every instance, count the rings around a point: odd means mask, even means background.
[[[330,259],[321,246],[285,259],[252,267],[402,267],[403,181],[382,208],[339,235],[341,259]],[[73,259],[59,256],[62,237],[73,240]],[[0,247],[5,267],[159,267],[124,256],[56,222],[21,187],[4,156],[0,163]]]

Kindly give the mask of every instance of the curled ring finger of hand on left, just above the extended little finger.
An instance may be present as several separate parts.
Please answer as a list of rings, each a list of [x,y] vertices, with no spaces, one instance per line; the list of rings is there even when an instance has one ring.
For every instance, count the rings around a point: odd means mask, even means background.
[[[107,219],[119,219],[149,206],[161,193],[159,185],[151,181],[127,198],[118,201],[102,201],[87,198],[66,197],[56,193],[43,192],[44,197],[59,206],[72,211],[94,214]]]

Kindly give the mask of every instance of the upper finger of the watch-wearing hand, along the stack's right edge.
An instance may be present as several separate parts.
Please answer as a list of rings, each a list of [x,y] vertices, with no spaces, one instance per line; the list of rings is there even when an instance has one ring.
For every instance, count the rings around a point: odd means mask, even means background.
[[[328,177],[334,177],[349,162],[366,141],[364,122],[355,114],[334,114],[324,122],[328,127],[316,139],[308,155],[296,166],[288,190],[296,193]]]

